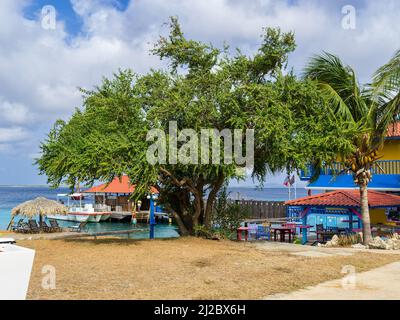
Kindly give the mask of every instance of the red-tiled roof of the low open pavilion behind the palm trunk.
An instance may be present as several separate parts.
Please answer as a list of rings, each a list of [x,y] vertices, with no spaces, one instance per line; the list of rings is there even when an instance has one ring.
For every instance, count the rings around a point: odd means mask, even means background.
[[[358,190],[336,190],[285,202],[290,206],[307,207],[360,207]],[[400,207],[400,196],[368,190],[370,208]]]

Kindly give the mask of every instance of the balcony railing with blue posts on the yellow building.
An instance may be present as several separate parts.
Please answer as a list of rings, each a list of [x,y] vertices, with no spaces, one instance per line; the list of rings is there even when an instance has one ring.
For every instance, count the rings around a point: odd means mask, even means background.
[[[382,169],[382,170],[381,170]],[[326,165],[321,170],[321,175],[338,175],[349,174],[345,172],[345,166],[342,162],[334,162]],[[381,174],[398,174],[400,175],[400,160],[379,160],[372,166],[373,175]],[[309,166],[306,170],[301,172],[301,180],[309,180],[313,175],[312,167]]]

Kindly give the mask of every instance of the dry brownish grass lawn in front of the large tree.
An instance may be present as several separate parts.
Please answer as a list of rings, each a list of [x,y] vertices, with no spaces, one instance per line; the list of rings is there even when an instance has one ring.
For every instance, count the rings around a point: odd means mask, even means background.
[[[261,299],[358,272],[399,256],[356,253],[308,258],[251,244],[196,238],[127,241],[36,240],[29,299]],[[57,288],[41,287],[42,267],[57,271]]]

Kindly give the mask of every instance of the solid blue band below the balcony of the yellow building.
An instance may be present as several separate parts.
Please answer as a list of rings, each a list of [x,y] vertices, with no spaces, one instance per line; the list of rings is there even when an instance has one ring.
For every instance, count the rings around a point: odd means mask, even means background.
[[[310,183],[307,189],[314,190],[337,190],[337,189],[358,189],[353,182],[351,175],[322,175],[317,181]],[[398,174],[377,174],[372,177],[368,185],[369,189],[382,191],[400,191],[400,175]]]

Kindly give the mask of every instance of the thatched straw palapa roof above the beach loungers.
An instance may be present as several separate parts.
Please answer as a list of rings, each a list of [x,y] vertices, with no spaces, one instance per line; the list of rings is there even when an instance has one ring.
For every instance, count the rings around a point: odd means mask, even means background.
[[[16,206],[11,211],[11,216],[15,217],[17,215],[25,216],[27,218],[32,218],[36,215],[46,216],[50,214],[67,214],[68,209],[61,203],[49,200],[43,197],[36,198],[34,200],[29,200],[20,205]]]

